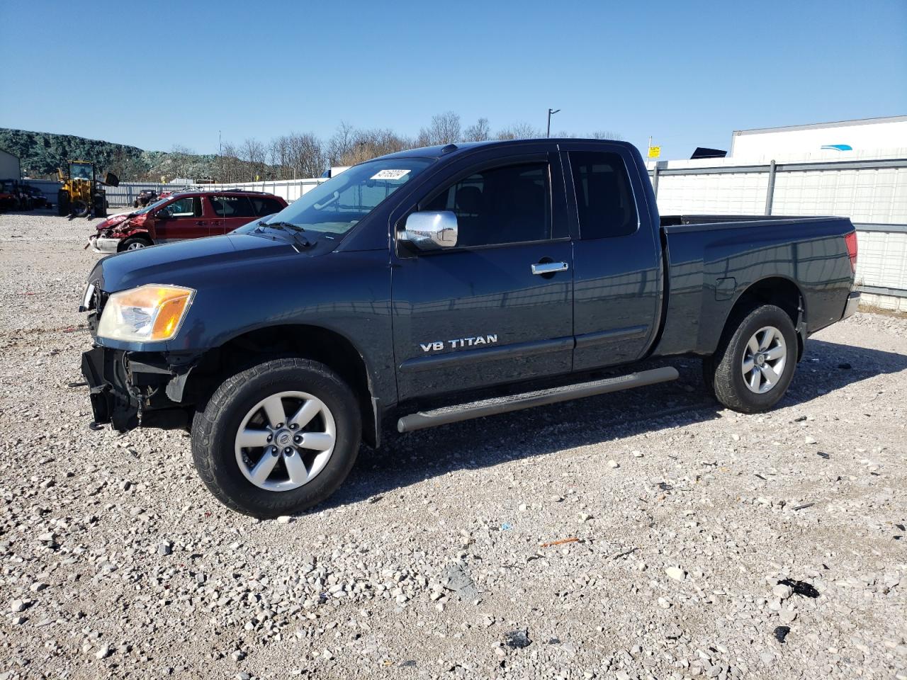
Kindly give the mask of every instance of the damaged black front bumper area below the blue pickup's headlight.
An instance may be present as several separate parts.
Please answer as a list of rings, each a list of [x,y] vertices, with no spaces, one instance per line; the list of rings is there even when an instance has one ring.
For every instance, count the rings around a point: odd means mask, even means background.
[[[95,345],[82,355],[94,423],[111,423],[118,432],[139,426],[186,427],[189,405],[183,392],[193,367],[193,358],[186,355]]]

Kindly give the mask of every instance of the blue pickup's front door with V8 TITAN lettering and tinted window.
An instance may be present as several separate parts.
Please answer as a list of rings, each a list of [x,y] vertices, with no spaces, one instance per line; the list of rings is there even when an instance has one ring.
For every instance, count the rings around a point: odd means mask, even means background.
[[[417,208],[453,211],[456,247],[398,241],[394,256],[400,399],[569,372],[572,256],[557,155],[473,164],[442,186]]]

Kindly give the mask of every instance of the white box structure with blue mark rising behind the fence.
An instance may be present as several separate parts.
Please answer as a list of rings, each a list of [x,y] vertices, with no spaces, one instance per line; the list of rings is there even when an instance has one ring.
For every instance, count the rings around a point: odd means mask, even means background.
[[[737,130],[730,156],[757,160],[834,160],[876,158],[907,149],[907,116],[859,121],[816,122],[783,128]],[[842,159],[843,160],[843,159]]]

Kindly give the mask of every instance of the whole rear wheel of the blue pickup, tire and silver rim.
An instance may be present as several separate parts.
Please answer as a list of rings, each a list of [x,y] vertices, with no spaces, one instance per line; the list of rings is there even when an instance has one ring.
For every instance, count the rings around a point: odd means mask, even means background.
[[[706,382],[727,408],[768,411],[794,378],[796,355],[790,316],[774,305],[759,306],[728,326],[717,352],[704,364]]]

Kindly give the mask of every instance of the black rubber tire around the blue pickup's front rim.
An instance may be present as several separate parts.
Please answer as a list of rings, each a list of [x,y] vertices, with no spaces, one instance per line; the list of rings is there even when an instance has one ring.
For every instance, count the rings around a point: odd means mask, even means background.
[[[268,491],[240,470],[236,437],[250,409],[288,391],[311,394],[327,406],[336,423],[336,440],[327,464],[313,479],[291,491]],[[228,508],[258,518],[278,517],[307,510],[336,491],[356,462],[361,436],[356,396],[333,371],[307,359],[273,359],[228,378],[204,411],[196,413],[192,458],[201,480]]]

